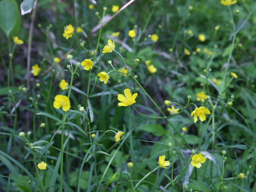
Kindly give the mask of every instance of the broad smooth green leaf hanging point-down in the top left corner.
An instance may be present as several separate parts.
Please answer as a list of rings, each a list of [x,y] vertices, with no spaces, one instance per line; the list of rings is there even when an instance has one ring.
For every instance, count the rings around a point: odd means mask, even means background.
[[[17,5],[17,4],[16,4]],[[7,37],[9,37],[17,20],[17,12],[15,3],[12,1],[0,2],[0,27],[3,29]]]

